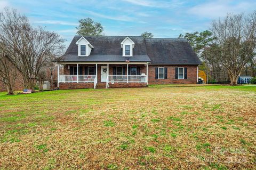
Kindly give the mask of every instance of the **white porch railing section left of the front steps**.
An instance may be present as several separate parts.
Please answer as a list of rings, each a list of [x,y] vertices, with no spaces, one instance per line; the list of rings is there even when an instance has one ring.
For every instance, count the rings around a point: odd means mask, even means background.
[[[59,83],[94,83],[96,75],[59,75]]]

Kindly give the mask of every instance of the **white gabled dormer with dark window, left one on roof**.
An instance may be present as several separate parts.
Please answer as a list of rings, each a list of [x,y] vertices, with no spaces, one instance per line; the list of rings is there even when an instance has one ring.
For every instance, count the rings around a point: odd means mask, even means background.
[[[78,45],[78,56],[89,56],[93,46],[83,36],[76,42]]]

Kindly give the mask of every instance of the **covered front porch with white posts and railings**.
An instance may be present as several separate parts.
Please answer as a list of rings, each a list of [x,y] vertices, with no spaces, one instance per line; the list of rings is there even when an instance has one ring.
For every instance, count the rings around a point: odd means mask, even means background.
[[[58,87],[63,83],[93,84],[85,85],[85,88],[96,88],[97,84],[105,84],[109,87],[141,86],[148,84],[148,63],[62,63],[64,74],[59,74]],[[115,84],[119,85],[115,85]],[[126,83],[125,85],[123,83]],[[122,85],[123,84],[123,85]],[[128,84],[128,85],[127,85]],[[82,85],[73,85],[82,87]],[[144,86],[144,85],[142,85]]]

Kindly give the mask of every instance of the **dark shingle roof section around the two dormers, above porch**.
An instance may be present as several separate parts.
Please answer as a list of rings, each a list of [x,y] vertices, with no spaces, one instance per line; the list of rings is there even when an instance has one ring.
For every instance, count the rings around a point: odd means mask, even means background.
[[[94,47],[89,56],[78,56],[78,46],[76,42],[82,36],[75,36],[70,43],[66,53],[62,56],[61,61],[125,61],[127,57],[123,56],[121,42],[127,36],[84,36]],[[143,37],[129,36],[135,43],[133,56],[129,58],[131,62],[150,62],[146,45]]]

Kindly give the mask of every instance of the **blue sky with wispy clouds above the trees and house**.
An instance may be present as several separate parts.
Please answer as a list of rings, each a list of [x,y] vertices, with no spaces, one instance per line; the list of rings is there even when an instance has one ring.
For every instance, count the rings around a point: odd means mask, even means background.
[[[67,40],[76,35],[78,20],[100,22],[104,35],[140,35],[177,38],[180,34],[209,29],[213,20],[227,13],[250,13],[256,1],[180,1],[180,0],[0,0],[5,6],[25,14],[34,26],[55,31]]]

